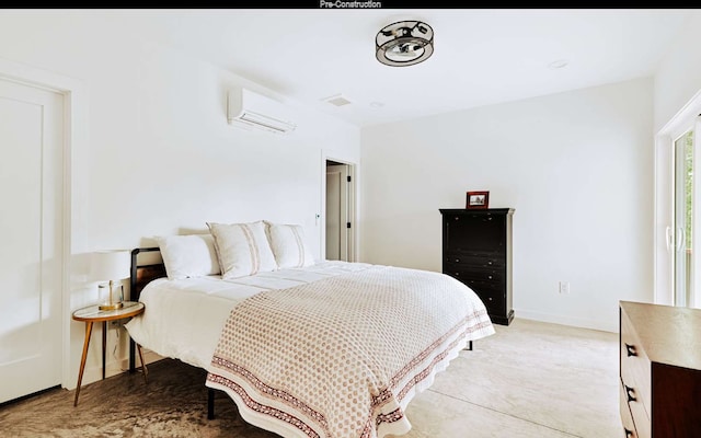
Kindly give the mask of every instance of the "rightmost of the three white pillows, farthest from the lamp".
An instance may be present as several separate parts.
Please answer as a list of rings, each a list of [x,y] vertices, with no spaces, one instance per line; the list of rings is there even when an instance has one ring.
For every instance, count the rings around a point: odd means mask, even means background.
[[[307,244],[301,226],[265,223],[277,266],[304,267],[314,264],[314,256]]]

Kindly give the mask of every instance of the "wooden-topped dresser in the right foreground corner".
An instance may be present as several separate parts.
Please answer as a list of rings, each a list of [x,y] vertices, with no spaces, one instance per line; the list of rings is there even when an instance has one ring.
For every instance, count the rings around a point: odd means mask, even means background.
[[[624,437],[701,437],[701,310],[620,301]]]

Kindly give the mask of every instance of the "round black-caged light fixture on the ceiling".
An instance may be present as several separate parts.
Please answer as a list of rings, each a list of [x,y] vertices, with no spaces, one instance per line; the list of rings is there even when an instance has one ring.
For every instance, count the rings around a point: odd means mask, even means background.
[[[399,21],[375,37],[377,60],[393,67],[413,66],[434,53],[434,30],[421,21]]]

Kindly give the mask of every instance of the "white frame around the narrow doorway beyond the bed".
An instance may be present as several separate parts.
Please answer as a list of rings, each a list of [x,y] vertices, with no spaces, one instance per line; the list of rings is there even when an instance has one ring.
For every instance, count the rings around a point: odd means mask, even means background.
[[[335,161],[348,166],[348,176],[350,176],[350,191],[348,193],[348,217],[350,218],[350,235],[348,237],[348,262],[357,262],[358,242],[360,230],[358,227],[358,165],[357,163],[327,155],[325,151],[321,151],[321,207],[318,217],[322,220],[319,223],[320,249],[319,254],[322,260],[326,258],[326,161]]]

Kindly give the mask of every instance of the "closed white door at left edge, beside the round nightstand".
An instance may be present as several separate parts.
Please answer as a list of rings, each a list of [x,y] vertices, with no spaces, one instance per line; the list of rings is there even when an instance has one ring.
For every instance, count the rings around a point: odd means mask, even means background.
[[[0,403],[61,382],[62,106],[0,79]]]

